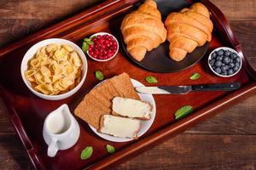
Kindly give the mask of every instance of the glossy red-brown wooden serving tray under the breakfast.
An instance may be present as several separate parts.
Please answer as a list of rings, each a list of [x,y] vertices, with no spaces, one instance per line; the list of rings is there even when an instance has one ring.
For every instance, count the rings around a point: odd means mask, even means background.
[[[244,57],[242,57],[243,68],[235,77],[216,77],[207,67],[207,55],[212,49],[219,46],[235,48],[243,56],[241,46],[230,30],[224,14],[208,0],[202,0],[201,3],[204,3],[211,11],[214,23],[212,42],[206,57],[185,71],[168,74],[145,71],[131,63],[131,60],[122,51],[119,51],[118,55],[108,62],[102,63],[88,59],[89,70],[84,85],[77,94],[68,99],[60,101],[39,99],[26,88],[20,77],[20,62],[26,50],[34,43],[50,37],[61,37],[77,42],[80,45],[84,37],[89,37],[98,31],[109,31],[117,36],[120,21],[125,13],[138,2],[137,0],[108,0],[81,14],[55,24],[55,26],[38,31],[8,47],[0,49],[0,94],[9,111],[9,119],[20,136],[35,168],[63,170],[99,169],[113,166],[118,161],[127,159],[154,144],[159,144],[163,139],[182,133],[186,128],[195,125],[195,123],[217,114],[224,107],[234,105],[239,100],[255,93],[256,73],[248,65]],[[191,2],[193,3],[193,1]],[[186,95],[154,96],[157,114],[153,126],[140,139],[131,142],[114,143],[100,139],[96,134],[92,133],[87,123],[78,119],[81,128],[78,143],[69,150],[58,151],[54,158],[48,157],[46,153],[47,145],[44,143],[42,135],[44,118],[50,111],[55,110],[64,103],[67,103],[71,111],[73,111],[84,97],[84,94],[88,93],[98,83],[94,76],[94,71],[97,70],[103,71],[107,78],[125,71],[132,78],[143,82],[145,85],[149,84],[144,81],[144,77],[151,75],[157,77],[159,85],[241,82],[241,88],[235,92],[201,92]],[[200,73],[201,78],[191,81],[189,77],[195,72]],[[174,112],[183,105],[192,105],[195,108],[195,112],[176,122],[174,120]],[[109,155],[105,150],[106,144],[112,144],[117,152]],[[90,159],[81,161],[79,159],[80,152],[87,145],[93,146],[93,155]]]

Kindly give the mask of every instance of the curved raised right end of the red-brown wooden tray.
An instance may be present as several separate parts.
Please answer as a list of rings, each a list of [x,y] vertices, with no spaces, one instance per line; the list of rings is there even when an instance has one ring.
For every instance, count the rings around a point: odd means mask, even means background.
[[[222,35],[229,40],[231,47],[235,48],[237,53],[240,54],[243,67],[245,68],[249,76],[253,79],[253,81],[256,81],[256,71],[248,63],[247,59],[242,54],[241,44],[237,41],[235,35],[233,34],[233,31],[231,30],[230,25],[226,20],[224,14],[217,6],[215,6],[209,0],[201,0],[201,3],[203,3],[211,12],[211,18],[214,26],[218,27],[218,30],[221,31]]]

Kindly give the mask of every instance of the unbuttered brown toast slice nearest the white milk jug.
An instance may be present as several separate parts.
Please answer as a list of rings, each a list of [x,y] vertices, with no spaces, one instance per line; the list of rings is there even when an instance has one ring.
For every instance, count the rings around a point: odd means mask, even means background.
[[[93,95],[86,94],[83,101],[75,109],[74,114],[98,129],[101,116],[110,114],[110,112],[111,110],[102,105]]]

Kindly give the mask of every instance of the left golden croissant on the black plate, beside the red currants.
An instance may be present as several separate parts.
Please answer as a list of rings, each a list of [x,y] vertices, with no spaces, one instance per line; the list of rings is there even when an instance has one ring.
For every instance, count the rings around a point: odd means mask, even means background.
[[[122,21],[121,31],[127,51],[137,61],[141,61],[147,51],[165,42],[167,36],[160,11],[153,0],[146,0],[136,11],[127,14]]]

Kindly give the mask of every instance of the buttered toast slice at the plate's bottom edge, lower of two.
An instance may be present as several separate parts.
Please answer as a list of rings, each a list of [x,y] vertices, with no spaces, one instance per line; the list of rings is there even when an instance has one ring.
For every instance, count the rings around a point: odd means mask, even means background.
[[[103,115],[99,132],[120,138],[137,139],[137,133],[140,127],[141,122],[136,119]]]

